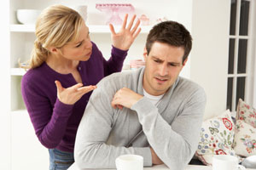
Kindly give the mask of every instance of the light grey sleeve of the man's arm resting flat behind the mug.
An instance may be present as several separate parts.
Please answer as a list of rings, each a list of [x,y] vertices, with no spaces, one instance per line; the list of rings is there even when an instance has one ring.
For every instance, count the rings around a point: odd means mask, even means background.
[[[107,88],[105,88],[107,89]],[[111,107],[113,88],[96,88],[90,96],[76,136],[74,158],[79,168],[115,168],[115,159],[125,154],[143,156],[144,166],[151,166],[148,147],[114,146],[107,144],[113,124],[114,111]]]

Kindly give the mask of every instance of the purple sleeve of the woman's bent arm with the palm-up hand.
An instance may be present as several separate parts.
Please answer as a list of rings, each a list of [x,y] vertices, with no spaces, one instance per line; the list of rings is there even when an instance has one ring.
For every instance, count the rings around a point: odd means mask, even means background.
[[[73,105],[56,99],[52,107],[46,94],[37,87],[26,76],[22,78],[21,94],[38,139],[46,148],[55,148],[64,136]]]

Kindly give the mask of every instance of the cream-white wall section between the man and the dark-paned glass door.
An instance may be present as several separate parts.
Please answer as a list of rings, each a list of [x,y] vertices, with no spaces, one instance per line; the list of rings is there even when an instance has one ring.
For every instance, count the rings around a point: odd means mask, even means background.
[[[226,108],[230,0],[194,0],[190,77],[207,93],[205,118]]]

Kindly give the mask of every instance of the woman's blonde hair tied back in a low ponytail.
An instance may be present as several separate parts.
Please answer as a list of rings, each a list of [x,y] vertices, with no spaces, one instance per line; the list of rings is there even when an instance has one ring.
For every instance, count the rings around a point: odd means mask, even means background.
[[[76,41],[83,19],[78,12],[63,5],[45,8],[36,23],[36,37],[27,69],[36,68],[49,56],[49,47],[61,48]]]

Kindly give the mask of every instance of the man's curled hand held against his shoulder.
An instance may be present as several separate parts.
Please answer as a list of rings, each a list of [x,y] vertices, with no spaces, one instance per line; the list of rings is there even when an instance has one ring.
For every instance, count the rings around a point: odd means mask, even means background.
[[[119,109],[123,109],[123,107],[131,109],[131,106],[142,98],[142,95],[133,92],[129,88],[121,88],[114,94],[111,105],[114,109],[116,109],[116,107]]]

